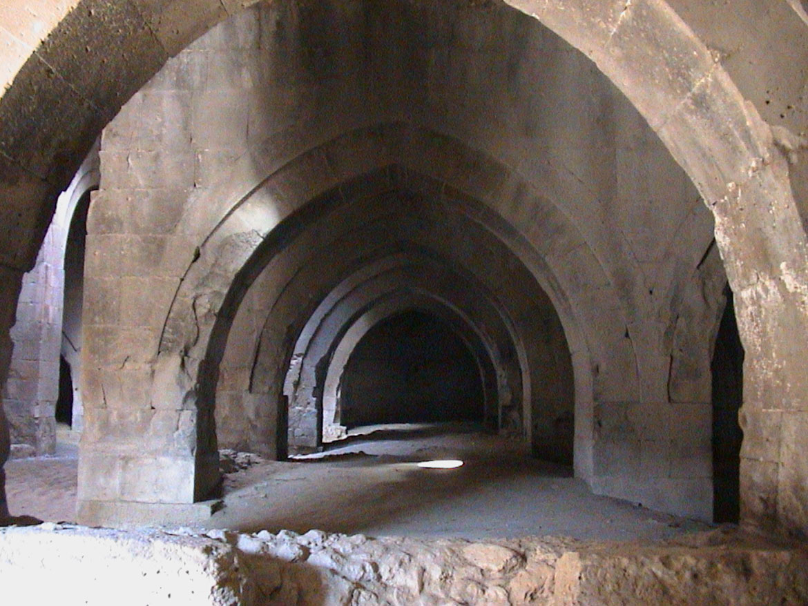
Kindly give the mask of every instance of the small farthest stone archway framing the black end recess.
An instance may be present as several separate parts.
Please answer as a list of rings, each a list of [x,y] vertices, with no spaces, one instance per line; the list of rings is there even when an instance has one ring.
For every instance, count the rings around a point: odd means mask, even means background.
[[[343,347],[341,354],[349,355],[356,339],[364,335],[361,327],[375,324],[370,318],[376,318],[374,314],[382,310],[389,315],[397,303],[406,306],[416,301],[432,301],[430,306],[420,303],[419,308],[437,306],[442,309],[440,316],[448,314],[444,321],[457,326],[456,332],[467,333],[466,343],[477,343],[473,349],[478,360],[485,360],[490,367],[488,382],[496,387],[487,402],[486,425],[520,436],[522,419],[529,418],[529,403],[532,402],[530,371],[535,372],[535,369],[527,364],[520,335],[513,334],[510,322],[507,322],[507,317],[500,316],[503,311],[492,298],[482,284],[475,284],[467,276],[424,259],[405,260],[398,267],[380,271],[371,279],[356,284],[347,297],[338,301],[329,310],[330,314],[323,318],[314,339],[307,343],[305,355],[294,364],[293,372],[290,368],[284,381],[288,386],[284,393],[289,397],[289,406],[308,410],[309,415],[317,419],[330,412],[333,419],[334,409],[329,404],[335,403],[335,398],[330,402],[326,398],[329,396],[329,372],[335,372],[331,378],[339,381],[341,368],[337,360],[342,360],[339,347]],[[519,351],[520,356],[504,360],[502,351]],[[530,361],[535,364],[532,357]],[[345,362],[347,358],[342,360],[342,365]],[[570,378],[571,383],[571,377],[564,378]],[[332,391],[330,395],[335,393]],[[571,406],[572,402],[567,403]],[[300,412],[296,416],[299,417]],[[290,416],[290,425],[291,419]]]

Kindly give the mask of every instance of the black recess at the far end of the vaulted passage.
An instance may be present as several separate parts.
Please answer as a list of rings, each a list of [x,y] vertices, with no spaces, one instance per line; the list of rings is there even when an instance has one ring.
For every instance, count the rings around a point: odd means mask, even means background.
[[[478,421],[478,364],[444,322],[406,311],[379,322],[357,344],[340,382],[347,427],[376,423]]]

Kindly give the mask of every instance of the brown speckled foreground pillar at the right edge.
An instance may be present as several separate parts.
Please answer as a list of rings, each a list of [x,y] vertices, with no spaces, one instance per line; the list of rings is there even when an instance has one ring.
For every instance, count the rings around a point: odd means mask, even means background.
[[[785,158],[716,200],[716,240],[745,351],[741,523],[808,536],[808,238]]]

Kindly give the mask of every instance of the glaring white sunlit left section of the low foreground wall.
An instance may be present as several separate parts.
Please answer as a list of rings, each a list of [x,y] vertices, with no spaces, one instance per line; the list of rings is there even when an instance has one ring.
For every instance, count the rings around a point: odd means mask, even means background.
[[[3,591],[41,603],[255,604],[239,564],[229,545],[165,532],[44,524],[5,530],[0,538]],[[35,589],[31,579],[44,570],[52,573],[50,581]],[[78,591],[65,593],[77,581]]]

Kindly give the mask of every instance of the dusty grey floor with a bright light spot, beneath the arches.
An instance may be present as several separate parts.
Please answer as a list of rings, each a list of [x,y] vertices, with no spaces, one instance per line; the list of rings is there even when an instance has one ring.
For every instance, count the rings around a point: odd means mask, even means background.
[[[354,432],[326,452],[263,461],[225,452],[224,507],[208,528],[286,528],[369,536],[526,537],[659,541],[708,524],[599,497],[570,469],[536,461],[508,440],[470,427],[385,426]],[[74,520],[74,436],[60,432],[56,457],[6,465],[14,515]],[[417,461],[457,458],[459,469]]]

